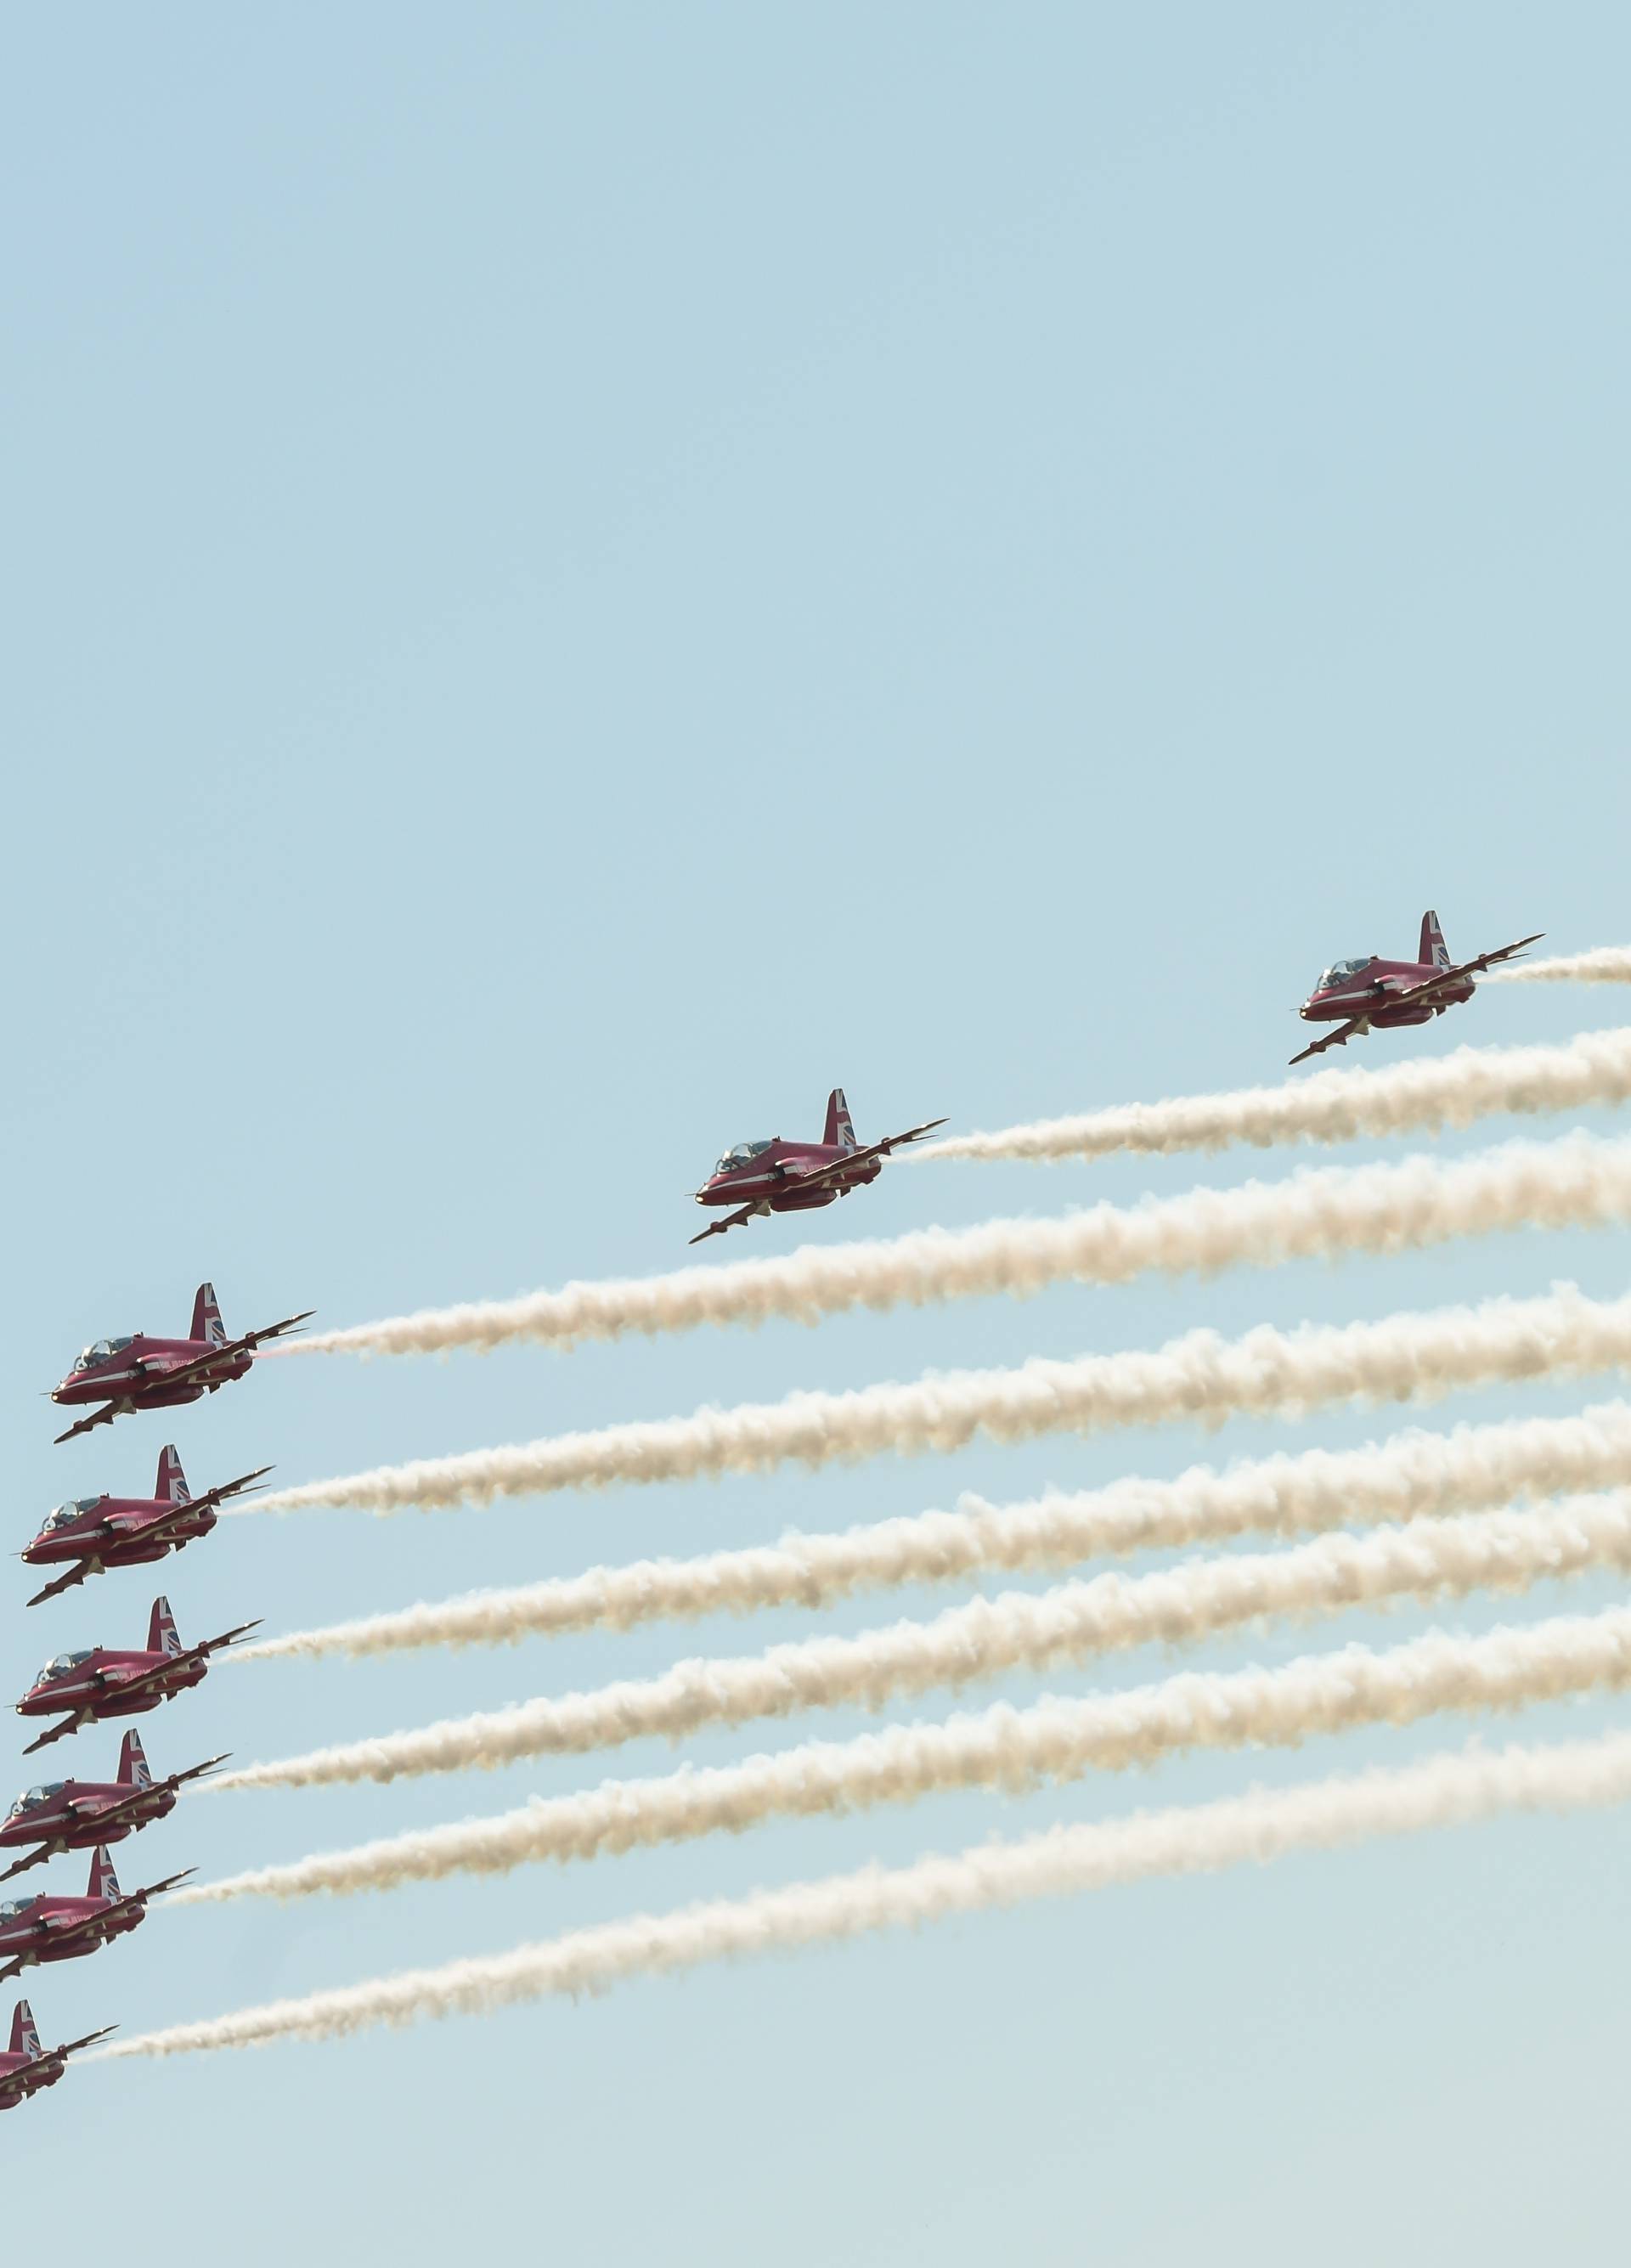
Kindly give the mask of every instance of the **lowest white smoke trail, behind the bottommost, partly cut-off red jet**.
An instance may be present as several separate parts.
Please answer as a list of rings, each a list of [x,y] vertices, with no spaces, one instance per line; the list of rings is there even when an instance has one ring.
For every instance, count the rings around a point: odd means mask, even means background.
[[[370,1978],[338,1991],[272,2000],[231,2016],[177,2023],[93,2050],[186,2055],[254,2048],[272,2039],[340,2039],[417,2016],[481,2016],[551,1994],[594,1994],[637,1975],[667,1975],[751,1953],[792,1953],[873,1930],[914,1930],[950,1914],[1064,1898],[1155,1876],[1268,1864],[1293,1851],[1341,1851],[1384,1835],[1470,1826],[1504,1812],[1579,1812],[1631,1796],[1631,1733],[1545,1749],[1468,1749],[1418,1765],[1372,1769],[1304,1787],[1257,1787],[1132,1819],[1048,1828],[1025,1842],[987,1842],[957,1857],[855,1873],[746,1898],[717,1898],[674,1914],[601,1921],[544,1944],[515,1946],[440,1969]]]

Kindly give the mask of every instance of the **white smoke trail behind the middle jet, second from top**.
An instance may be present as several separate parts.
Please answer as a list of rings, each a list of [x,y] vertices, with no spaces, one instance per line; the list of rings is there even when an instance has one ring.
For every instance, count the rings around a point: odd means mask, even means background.
[[[1631,975],[1631,953],[1624,955]],[[1540,964],[1545,966],[1545,964]],[[1515,971],[1527,975],[1527,971]],[[1574,1111],[1631,1098],[1631,1032],[1583,1032],[1558,1048],[1456,1048],[1379,1070],[1316,1070],[1284,1086],[1245,1086],[1168,1102],[1123,1102],[1073,1118],[1039,1118],[996,1134],[955,1134],[910,1161],[1073,1159],[1177,1150],[1266,1150],[1291,1141],[1468,1127],[1495,1111]]]

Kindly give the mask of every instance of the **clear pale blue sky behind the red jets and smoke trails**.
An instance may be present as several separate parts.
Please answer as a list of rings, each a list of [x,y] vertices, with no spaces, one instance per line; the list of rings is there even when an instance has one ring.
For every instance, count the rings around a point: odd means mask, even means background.
[[[98,1331],[179,1329],[202,1275],[250,1325],[662,1268],[717,1152],[814,1134],[835,1080],[862,1136],[1243,1084],[1279,1073],[1327,959],[1409,950],[1425,905],[1452,948],[1624,941],[1631,34],[1608,7],[1468,5],[9,29],[11,1549],[64,1495],[145,1486],[168,1438],[195,1486],[263,1458],[311,1479],[1195,1322],[1622,1288],[1620,1238],[1529,1236],[819,1336],[286,1363],[52,1449],[39,1390]],[[1368,1059],[1622,1014],[1490,991]],[[808,1234],[1252,1170],[1282,1168],[891,1170]],[[1393,1422],[1236,1427],[1211,1454]],[[236,1522],[163,1581],[184,1635],[288,1628],[1198,1454],[1146,1433]],[[25,1615],[18,1572],[9,1690],[138,1635],[154,1588]],[[808,1628],[222,1667],[147,1746],[272,1755]],[[1533,1730],[1604,1719],[1624,1706]],[[50,2039],[147,2028],[1456,1737],[154,1916],[32,1998]],[[113,1751],[86,1733],[73,1767]],[[118,1862],[220,1871],[667,1760],[195,1801]],[[125,2268],[177,2245],[417,2268],[472,2239],[674,2268],[1608,2257],[1626,1857],[1631,1821],[1524,1821],[597,2005],[86,2071],[5,2127],[7,2239],[59,2245],[95,2175],[147,2200],[120,2211]]]

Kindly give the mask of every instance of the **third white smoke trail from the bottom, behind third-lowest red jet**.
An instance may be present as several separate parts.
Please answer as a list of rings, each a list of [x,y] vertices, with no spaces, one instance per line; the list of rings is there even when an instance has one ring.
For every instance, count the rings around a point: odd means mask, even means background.
[[[1100,1574],[1055,1590],[971,1599],[935,1622],[860,1637],[805,1637],[767,1653],[678,1662],[656,1678],[517,1701],[408,1733],[343,1742],[225,1774],[220,1787],[313,1787],[424,1771],[490,1771],[524,1755],[581,1755],[626,1740],[685,1740],[705,1726],[969,1685],[1007,1669],[1057,1669],[1146,1644],[1193,1644],[1268,1615],[1307,1619],[1395,1599],[1527,1590],[1592,1567],[1631,1569],[1631,1490],[1536,1513],[1420,1520],[1372,1535],[1320,1535],[1293,1551]]]

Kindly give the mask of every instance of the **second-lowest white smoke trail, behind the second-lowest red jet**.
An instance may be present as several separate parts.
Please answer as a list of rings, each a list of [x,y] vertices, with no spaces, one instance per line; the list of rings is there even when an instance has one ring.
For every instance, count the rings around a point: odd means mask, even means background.
[[[1631,1608],[1561,1615],[1484,1637],[1434,1631],[1375,1651],[1343,1647],[1282,1669],[1184,1672],[1159,1685],[998,1703],[946,1724],[894,1724],[860,1740],[810,1740],[742,1765],[665,1778],[603,1780],[576,1796],[535,1796],[515,1812],[415,1828],[352,1851],[320,1851],[179,1889],[172,1905],[397,1889],[449,1873],[506,1873],[538,1860],[608,1857],[649,1844],[916,1803],[964,1787],[1016,1794],[1087,1771],[1127,1771],[1189,1749],[1300,1746],[1316,1733],[1415,1724],[1438,1710],[1520,1708],[1631,1685]],[[216,1787],[265,1785],[263,1765]]]

